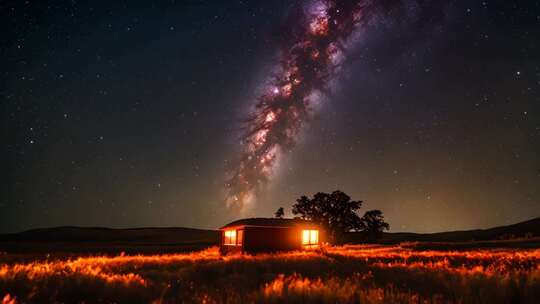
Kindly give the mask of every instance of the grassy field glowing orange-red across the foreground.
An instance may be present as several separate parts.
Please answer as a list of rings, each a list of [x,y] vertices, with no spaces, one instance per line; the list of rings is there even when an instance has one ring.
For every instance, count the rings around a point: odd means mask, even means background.
[[[227,256],[0,256],[5,303],[538,303],[540,250],[345,246]]]

